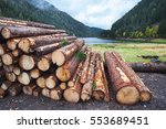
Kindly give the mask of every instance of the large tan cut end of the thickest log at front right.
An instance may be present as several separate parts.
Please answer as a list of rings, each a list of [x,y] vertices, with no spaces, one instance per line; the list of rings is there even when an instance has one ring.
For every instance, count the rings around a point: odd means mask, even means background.
[[[139,93],[136,87],[126,86],[117,92],[116,100],[123,105],[134,105],[139,100]]]

